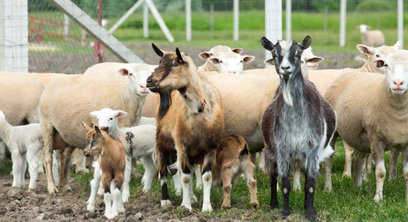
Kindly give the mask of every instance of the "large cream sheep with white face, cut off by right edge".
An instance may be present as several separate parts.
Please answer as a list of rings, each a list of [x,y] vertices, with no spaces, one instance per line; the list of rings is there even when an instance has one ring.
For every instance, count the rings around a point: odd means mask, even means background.
[[[338,135],[357,150],[356,156],[360,159],[366,153],[373,154],[376,202],[383,198],[386,174],[384,151],[394,148],[403,153],[403,173],[408,200],[407,61],[407,50],[399,50],[387,58],[374,60],[374,65],[385,67],[385,75],[343,74],[331,83],[324,96],[337,113]],[[335,139],[333,138],[333,141]],[[361,185],[362,167],[361,162],[356,163],[355,185]]]

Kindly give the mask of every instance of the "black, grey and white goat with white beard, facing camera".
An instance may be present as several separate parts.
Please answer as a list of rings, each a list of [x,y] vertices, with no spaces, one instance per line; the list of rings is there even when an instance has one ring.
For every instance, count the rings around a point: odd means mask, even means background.
[[[289,210],[289,169],[300,167],[305,173],[305,210],[307,218],[316,220],[314,207],[315,179],[319,163],[333,153],[329,142],[336,128],[332,107],[318,93],[315,85],[305,80],[301,71],[301,56],[312,39],[277,41],[266,37],[262,46],[272,52],[272,65],[280,84],[262,120],[265,140],[266,168],[271,174],[271,208],[278,208],[276,182],[282,179],[283,216]]]

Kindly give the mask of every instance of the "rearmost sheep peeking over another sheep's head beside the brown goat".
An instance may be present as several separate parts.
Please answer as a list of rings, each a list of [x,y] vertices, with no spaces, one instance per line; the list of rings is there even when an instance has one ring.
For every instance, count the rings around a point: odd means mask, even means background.
[[[243,51],[242,48],[231,49],[230,47],[225,46],[225,45],[214,46],[210,49],[210,51],[201,52],[200,54],[198,54],[198,57],[200,57],[201,59],[207,60],[207,61],[204,63],[204,65],[199,66],[197,70],[198,72],[210,72],[210,71],[218,72],[219,71],[218,64],[211,63],[210,61],[208,61],[209,58],[220,56],[227,52],[234,52],[236,54],[241,54],[242,51]]]

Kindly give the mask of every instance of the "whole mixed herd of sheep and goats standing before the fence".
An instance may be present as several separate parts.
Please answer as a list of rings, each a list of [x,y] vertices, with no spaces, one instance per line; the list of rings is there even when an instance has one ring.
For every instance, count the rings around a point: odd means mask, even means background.
[[[366,26],[359,28],[370,34]],[[345,175],[351,176],[356,156],[356,185],[367,180],[371,159],[375,164],[375,201],[383,198],[384,151],[393,154],[392,179],[401,151],[408,200],[408,51],[400,50],[399,42],[359,44],[365,56],[361,68],[315,70],[323,58],[312,53],[311,43],[310,37],[300,43],[263,37],[262,46],[272,53],[265,63],[274,69],[244,71],[243,64],[255,57],[240,55],[241,48],[215,46],[199,54],[206,62],[196,67],[178,48],[166,52],[152,44],[158,65],[100,63],[69,75],[0,73],[0,142],[11,153],[12,185],[24,187],[28,162],[29,191],[36,190],[43,164],[49,193],[70,190],[75,150],[78,168],[85,168],[85,156],[93,161],[87,210],[94,212],[97,194],[103,194],[108,219],[125,211],[136,159],[145,169],[143,191],[158,176],[162,207],[172,205],[170,173],[181,205],[192,209],[198,201],[195,171],[202,211],[212,211],[210,194],[218,186],[221,207],[230,207],[231,186],[242,175],[257,209],[254,160],[260,152],[259,168],[271,176],[271,208],[279,206],[280,177],[283,218],[290,215],[289,175],[292,187],[301,189],[302,171],[307,218],[315,221],[319,163],[324,161],[324,187],[330,192],[332,153],[340,136]]]

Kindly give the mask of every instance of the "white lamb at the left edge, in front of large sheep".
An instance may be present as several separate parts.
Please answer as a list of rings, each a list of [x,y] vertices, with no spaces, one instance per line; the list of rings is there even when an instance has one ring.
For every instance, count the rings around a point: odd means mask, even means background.
[[[26,162],[30,173],[30,184],[28,190],[34,191],[37,186],[37,176],[44,147],[39,123],[24,126],[12,126],[5,119],[4,113],[0,111],[0,138],[4,141],[11,152],[13,161],[13,186],[24,188],[24,174]]]

